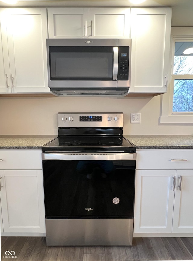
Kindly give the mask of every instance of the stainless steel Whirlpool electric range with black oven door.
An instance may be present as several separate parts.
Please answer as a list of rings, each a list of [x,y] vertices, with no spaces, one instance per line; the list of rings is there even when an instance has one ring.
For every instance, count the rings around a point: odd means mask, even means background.
[[[123,113],[58,113],[42,148],[47,245],[132,245],[136,147]]]

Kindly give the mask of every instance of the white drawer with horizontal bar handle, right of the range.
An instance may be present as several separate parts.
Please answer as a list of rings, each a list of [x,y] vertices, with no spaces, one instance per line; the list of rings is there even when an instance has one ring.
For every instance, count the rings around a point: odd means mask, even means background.
[[[137,150],[136,169],[192,168],[193,150]]]

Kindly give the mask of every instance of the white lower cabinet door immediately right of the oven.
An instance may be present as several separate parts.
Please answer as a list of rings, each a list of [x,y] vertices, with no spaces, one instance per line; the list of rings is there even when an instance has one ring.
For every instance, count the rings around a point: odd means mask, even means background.
[[[134,233],[172,232],[175,170],[137,170]]]

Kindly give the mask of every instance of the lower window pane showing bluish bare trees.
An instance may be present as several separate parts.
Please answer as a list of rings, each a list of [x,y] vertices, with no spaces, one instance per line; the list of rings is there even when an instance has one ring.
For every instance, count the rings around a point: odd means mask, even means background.
[[[193,80],[174,80],[173,112],[193,112]]]

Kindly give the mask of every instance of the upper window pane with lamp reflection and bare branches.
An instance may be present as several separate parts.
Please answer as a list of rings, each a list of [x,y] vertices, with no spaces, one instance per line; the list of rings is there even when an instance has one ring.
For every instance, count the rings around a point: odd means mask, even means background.
[[[173,74],[193,74],[193,53],[183,52],[193,47],[193,42],[176,42]],[[192,49],[191,49],[192,50]]]

